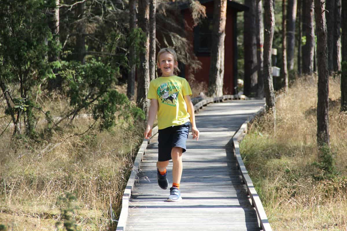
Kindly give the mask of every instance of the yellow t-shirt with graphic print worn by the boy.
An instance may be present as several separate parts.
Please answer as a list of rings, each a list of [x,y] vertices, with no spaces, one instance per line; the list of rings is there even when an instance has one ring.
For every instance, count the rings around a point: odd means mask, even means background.
[[[178,76],[159,77],[150,83],[147,98],[158,99],[158,129],[189,122],[184,96],[192,95],[186,79]]]

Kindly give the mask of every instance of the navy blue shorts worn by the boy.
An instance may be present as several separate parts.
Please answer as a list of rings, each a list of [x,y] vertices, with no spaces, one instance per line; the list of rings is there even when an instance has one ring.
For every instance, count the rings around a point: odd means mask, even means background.
[[[171,149],[174,147],[182,148],[182,153],[186,151],[190,124],[187,122],[158,130],[158,161],[171,160]]]

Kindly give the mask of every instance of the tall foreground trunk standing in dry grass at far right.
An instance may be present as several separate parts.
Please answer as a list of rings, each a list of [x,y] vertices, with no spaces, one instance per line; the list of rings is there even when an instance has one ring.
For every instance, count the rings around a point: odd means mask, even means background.
[[[317,104],[317,144],[329,143],[329,73],[327,24],[324,14],[325,0],[315,0],[315,18],[318,52],[318,104]]]

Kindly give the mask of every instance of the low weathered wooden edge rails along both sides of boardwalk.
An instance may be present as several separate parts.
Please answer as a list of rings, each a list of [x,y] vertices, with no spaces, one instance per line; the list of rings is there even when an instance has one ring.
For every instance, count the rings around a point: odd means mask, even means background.
[[[232,99],[249,99],[246,96],[242,95],[239,97],[238,95],[223,95],[221,97],[212,97],[212,98],[206,98],[201,100],[200,102],[196,103],[194,105],[194,111],[198,112],[200,109],[202,109],[204,106],[207,106],[210,103],[219,103],[223,100],[232,100]],[[271,231],[271,226],[268,221],[268,217],[265,214],[264,207],[260,201],[260,198],[254,188],[253,182],[251,178],[248,175],[248,171],[246,170],[246,167],[243,163],[243,160],[240,155],[240,149],[239,149],[239,142],[243,139],[245,134],[247,133],[247,128],[249,124],[251,124],[254,121],[254,118],[257,116],[261,116],[265,112],[265,106],[264,105],[257,113],[252,115],[245,123],[242,124],[242,126],[239,128],[239,130],[234,134],[232,137],[234,141],[234,147],[235,147],[235,157],[237,160],[238,168],[240,169],[243,183],[247,187],[248,195],[252,199],[252,205],[254,206],[257,216],[258,216],[258,222],[260,224],[260,227],[263,231]],[[158,126],[155,126],[152,129],[152,136],[154,136],[158,132]],[[135,186],[136,182],[136,176],[138,171],[140,170],[140,162],[142,161],[142,157],[145,154],[147,145],[149,144],[150,139],[144,139],[135,158],[134,166],[132,168],[132,172],[130,174],[130,177],[128,179],[128,183],[125,187],[123,197],[122,197],[122,208],[120,212],[120,216],[118,219],[118,225],[117,225],[117,231],[124,231],[126,228],[126,222],[128,217],[128,208],[129,208],[129,199],[132,195],[133,187]]]

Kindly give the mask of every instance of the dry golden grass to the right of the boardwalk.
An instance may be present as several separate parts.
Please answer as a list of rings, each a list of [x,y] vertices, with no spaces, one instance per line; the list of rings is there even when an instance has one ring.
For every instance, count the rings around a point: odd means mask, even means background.
[[[312,165],[318,160],[315,76],[297,79],[277,101],[276,134],[264,116],[241,143],[273,230],[347,230],[347,114],[340,113],[339,79],[329,85],[330,142],[340,175],[324,179]]]

